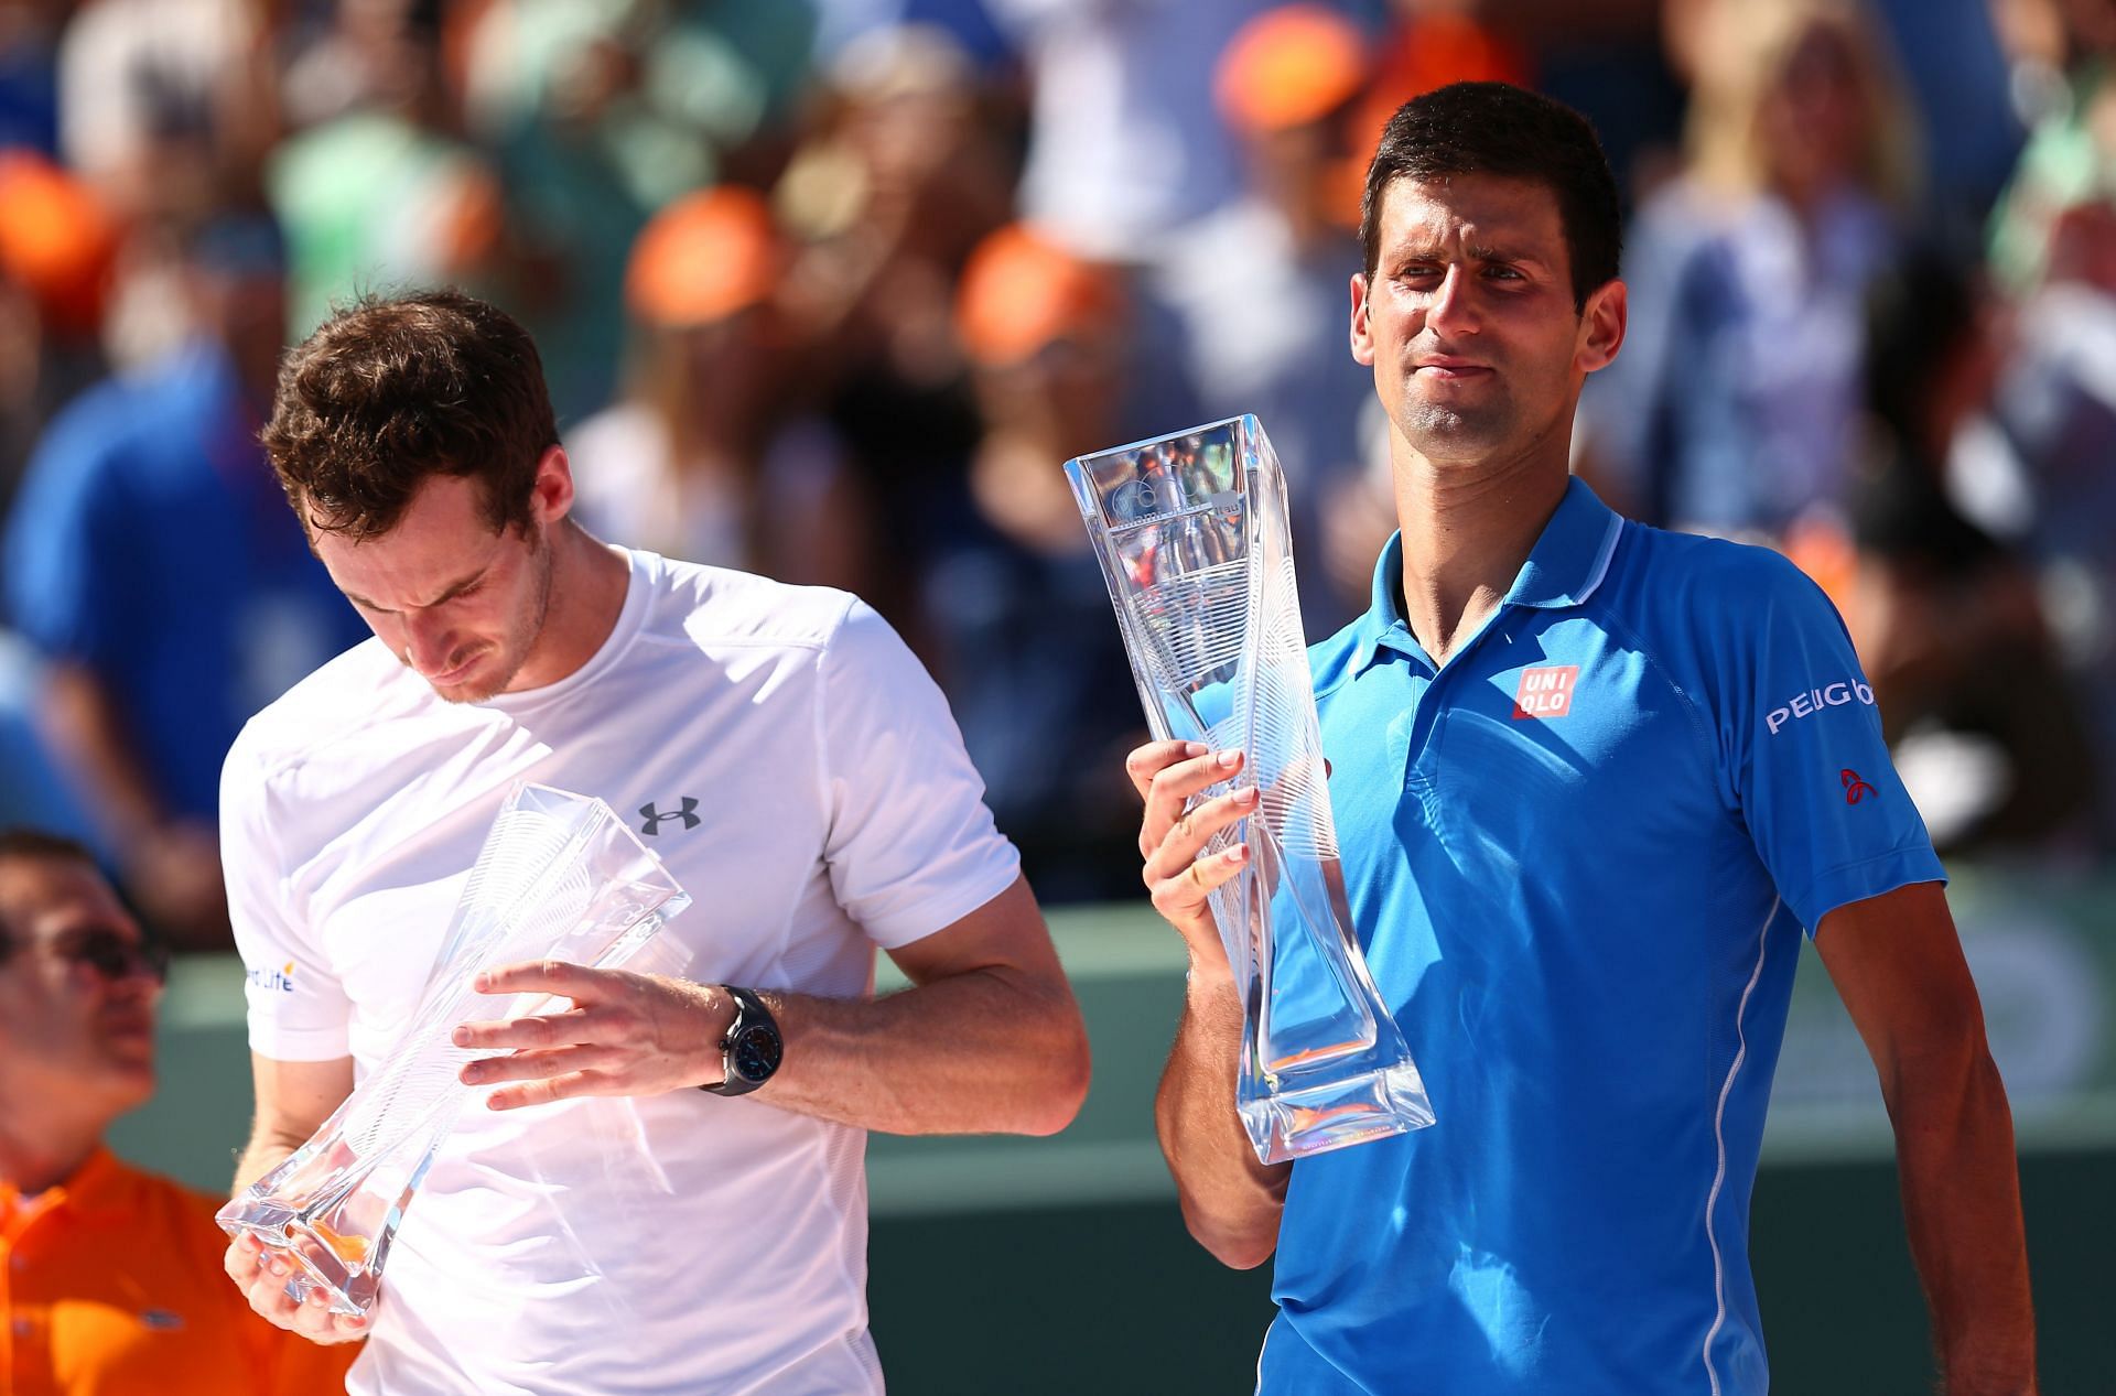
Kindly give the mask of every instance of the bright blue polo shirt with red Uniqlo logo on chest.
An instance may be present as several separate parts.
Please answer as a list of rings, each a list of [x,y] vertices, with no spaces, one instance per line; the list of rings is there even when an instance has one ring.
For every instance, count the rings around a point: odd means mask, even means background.
[[[1439,1123],[1301,1159],[1259,1390],[1761,1394],[1748,1199],[1801,926],[1945,878],[1828,599],[1574,480],[1435,671],[1310,662],[1352,922]]]

